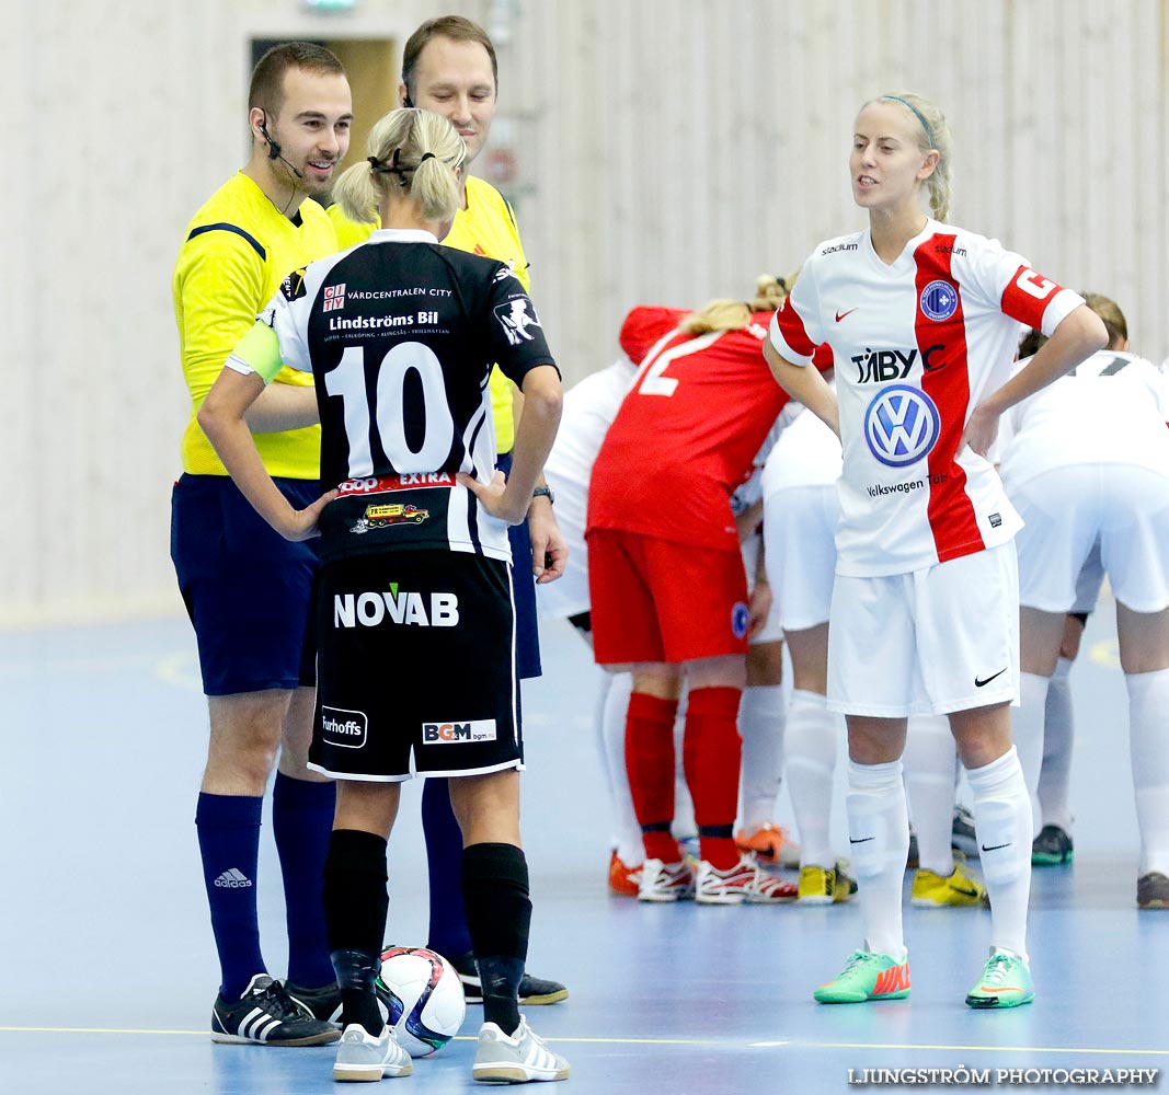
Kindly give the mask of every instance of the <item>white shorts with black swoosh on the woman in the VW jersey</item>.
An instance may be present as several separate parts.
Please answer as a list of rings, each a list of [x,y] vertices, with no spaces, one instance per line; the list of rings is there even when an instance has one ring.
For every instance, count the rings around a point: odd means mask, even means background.
[[[945,715],[1015,702],[1015,545],[886,577],[836,576],[828,706],[848,715]]]

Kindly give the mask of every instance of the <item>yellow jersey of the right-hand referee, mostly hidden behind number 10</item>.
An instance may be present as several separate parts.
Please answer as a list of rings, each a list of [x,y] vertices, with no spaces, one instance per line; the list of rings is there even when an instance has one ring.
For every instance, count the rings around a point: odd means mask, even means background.
[[[376,224],[357,224],[348,220],[339,205],[328,207],[328,215],[337,229],[337,242],[341,249],[364,243]],[[466,176],[466,208],[455,215],[450,234],[443,240],[445,247],[472,255],[484,255],[507,263],[519,278],[526,292],[532,289],[527,273],[524,244],[516,227],[516,214],[507,200],[490,182]],[[512,383],[499,369],[491,370],[491,411],[496,423],[496,444],[500,452],[510,452],[516,441],[516,422],[512,416]]]

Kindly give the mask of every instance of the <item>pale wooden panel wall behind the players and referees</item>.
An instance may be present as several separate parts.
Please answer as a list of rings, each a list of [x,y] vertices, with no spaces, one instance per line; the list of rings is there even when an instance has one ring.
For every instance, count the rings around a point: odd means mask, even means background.
[[[908,88],[955,131],[954,220],[1114,296],[1169,353],[1169,0],[42,0],[0,40],[14,474],[0,622],[178,610],[168,492],[187,414],[170,279],[244,158],[253,36],[497,35],[533,291],[579,379],[634,304],[745,296],[863,217],[851,122]]]

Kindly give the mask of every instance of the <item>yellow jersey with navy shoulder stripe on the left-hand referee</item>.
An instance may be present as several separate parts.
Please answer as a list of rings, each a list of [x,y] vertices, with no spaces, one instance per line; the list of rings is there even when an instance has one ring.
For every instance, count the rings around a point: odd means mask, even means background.
[[[332,221],[314,201],[290,221],[243,172],[233,175],[187,227],[172,292],[191,421],[182,436],[182,470],[226,476],[195,415],[235,344],[292,270],[337,251]],[[312,387],[312,374],[282,369],[277,383]],[[320,427],[257,434],[256,448],[272,476],[320,474]]]

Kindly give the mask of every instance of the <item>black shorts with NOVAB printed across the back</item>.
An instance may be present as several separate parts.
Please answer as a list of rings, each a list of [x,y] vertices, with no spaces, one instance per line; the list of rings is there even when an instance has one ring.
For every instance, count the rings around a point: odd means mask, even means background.
[[[524,767],[507,563],[387,552],[325,563],[318,589],[310,768],[397,782]]]

